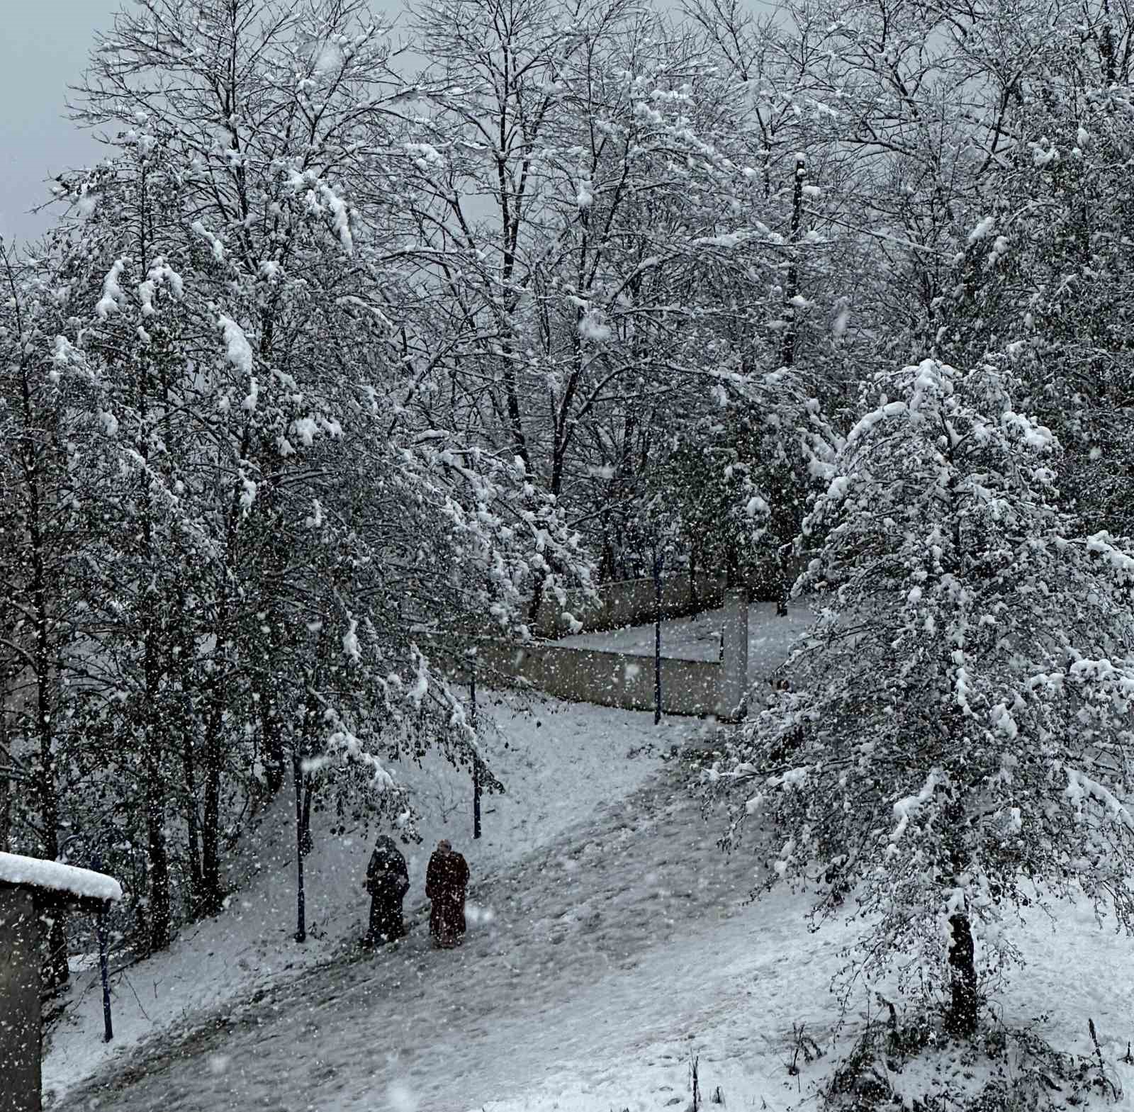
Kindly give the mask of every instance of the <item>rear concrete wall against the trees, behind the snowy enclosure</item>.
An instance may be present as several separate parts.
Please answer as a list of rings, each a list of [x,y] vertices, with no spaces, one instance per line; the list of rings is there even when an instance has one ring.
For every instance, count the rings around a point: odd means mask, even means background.
[[[696,589],[694,589],[694,586]],[[661,582],[662,618],[683,618],[714,610],[725,596],[725,580],[719,576],[697,576],[695,585],[687,575],[672,576]],[[536,637],[564,637],[570,633],[564,623],[566,611],[583,622],[586,633],[621,629],[623,626],[642,626],[653,621],[653,579],[621,579],[599,587],[601,605],[589,606],[582,594],[567,592],[567,605],[560,606],[553,595],[540,604],[532,631]]]

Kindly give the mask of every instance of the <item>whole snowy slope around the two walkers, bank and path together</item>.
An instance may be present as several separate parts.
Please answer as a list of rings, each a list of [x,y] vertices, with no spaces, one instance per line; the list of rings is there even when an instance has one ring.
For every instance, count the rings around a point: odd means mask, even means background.
[[[406,940],[366,957],[348,945],[362,931],[370,846],[323,837],[308,859],[315,936],[290,942],[281,810],[282,856],[261,848],[262,876],[229,912],[119,979],[112,1051],[84,975],[81,1007],[45,1062],[51,1106],[685,1112],[695,1058],[706,1101],[719,1087],[726,1107],[813,1107],[857,1025],[852,1016],[832,1046],[830,978],[856,928],[809,933],[802,895],[746,902],[752,847],[723,855],[684,762],[657,756],[702,727],[658,730],[649,714],[555,702],[524,714],[501,699],[492,713],[501,729],[485,745],[510,790],[485,801],[482,842],[468,837],[467,783],[448,770],[415,773],[432,818],[407,854]],[[469,934],[451,952],[430,949],[421,901],[441,833],[474,875]],[[1092,1018],[1126,1089],[1109,1106],[1134,1110],[1134,1069],[1118,1062],[1134,1037],[1132,945],[1099,931],[1085,907],[1057,926],[1036,915],[1018,928],[1030,965],[1004,1018],[1049,1015],[1042,1033],[1080,1053],[1092,1051]],[[827,1054],[790,1077],[797,1024]]]

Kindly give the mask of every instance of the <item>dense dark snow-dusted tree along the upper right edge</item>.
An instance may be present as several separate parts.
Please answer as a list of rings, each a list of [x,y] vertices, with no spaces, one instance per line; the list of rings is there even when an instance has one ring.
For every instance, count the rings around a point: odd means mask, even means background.
[[[1027,408],[1073,462],[1061,503],[1085,532],[1128,533],[1129,15],[1025,7],[1007,28],[978,27],[964,45],[1004,110],[934,355],[968,363],[1010,345]]]

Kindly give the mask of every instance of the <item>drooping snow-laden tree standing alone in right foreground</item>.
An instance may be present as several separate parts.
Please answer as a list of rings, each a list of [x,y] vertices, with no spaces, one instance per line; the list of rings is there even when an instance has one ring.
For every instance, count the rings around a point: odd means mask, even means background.
[[[960,1034],[1010,910],[1082,895],[1134,927],[1134,554],[1074,535],[1016,388],[931,360],[865,388],[804,525],[794,690],[709,778],[733,837],[779,832],[769,884],[813,885],[820,919],[853,893],[848,968],[947,991]]]

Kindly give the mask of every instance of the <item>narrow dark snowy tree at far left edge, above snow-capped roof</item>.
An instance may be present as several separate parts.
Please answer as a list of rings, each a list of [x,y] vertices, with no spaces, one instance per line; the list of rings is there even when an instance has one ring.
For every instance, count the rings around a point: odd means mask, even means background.
[[[0,241],[0,827],[5,841],[49,859],[66,815],[57,722],[62,660],[82,616],[76,571],[92,540],[75,468],[88,436],[61,382],[54,337],[66,313],[57,258],[22,257]],[[79,388],[79,394],[83,393]],[[23,790],[10,791],[9,784]],[[7,846],[6,846],[7,848]],[[48,969],[68,977],[65,918],[51,931]]]

